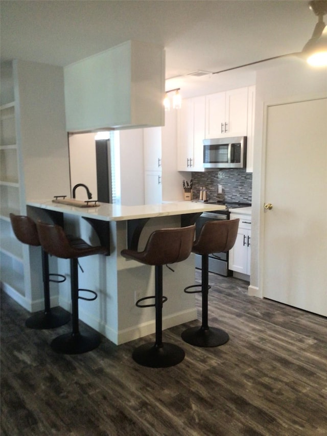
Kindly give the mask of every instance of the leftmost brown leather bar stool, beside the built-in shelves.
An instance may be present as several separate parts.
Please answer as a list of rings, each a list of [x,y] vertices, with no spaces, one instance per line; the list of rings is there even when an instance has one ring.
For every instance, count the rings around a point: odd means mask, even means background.
[[[10,214],[10,222],[13,232],[18,241],[23,244],[40,246],[35,222],[28,216]],[[49,256],[41,247],[42,256],[42,277],[44,311],[39,311],[30,316],[26,322],[26,327],[30,329],[53,329],[67,324],[71,319],[71,314],[61,307],[51,308],[50,306],[50,282],[62,283],[66,280],[61,274],[49,273]],[[54,279],[58,277],[59,279]]]

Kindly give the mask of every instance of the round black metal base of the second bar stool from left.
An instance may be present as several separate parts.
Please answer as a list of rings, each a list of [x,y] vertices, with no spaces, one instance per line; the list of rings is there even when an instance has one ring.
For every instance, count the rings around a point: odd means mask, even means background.
[[[65,333],[51,342],[51,348],[59,354],[82,354],[99,347],[100,342],[97,333]]]

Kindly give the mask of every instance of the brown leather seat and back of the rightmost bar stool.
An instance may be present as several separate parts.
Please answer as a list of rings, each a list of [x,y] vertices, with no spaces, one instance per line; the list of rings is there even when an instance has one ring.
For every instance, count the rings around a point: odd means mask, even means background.
[[[239,221],[239,219],[232,219],[204,223],[199,237],[194,242],[193,253],[209,255],[229,251],[235,244]]]

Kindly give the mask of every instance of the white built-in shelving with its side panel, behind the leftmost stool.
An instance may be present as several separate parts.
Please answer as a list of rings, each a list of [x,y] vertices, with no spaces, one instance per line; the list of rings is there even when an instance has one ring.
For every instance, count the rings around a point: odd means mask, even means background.
[[[40,253],[15,238],[9,214],[26,215],[27,198],[69,194],[63,69],[4,62],[0,110],[1,287],[26,309],[40,310]]]

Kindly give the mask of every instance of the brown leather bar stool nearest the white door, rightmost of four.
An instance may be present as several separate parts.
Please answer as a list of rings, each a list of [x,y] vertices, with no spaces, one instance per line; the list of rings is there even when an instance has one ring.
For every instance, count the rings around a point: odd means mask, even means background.
[[[203,224],[199,237],[195,240],[192,253],[201,255],[201,285],[192,285],[184,289],[186,293],[202,293],[202,325],[191,327],[181,334],[185,342],[197,347],[217,347],[229,340],[224,330],[208,326],[208,290],[209,290],[209,254],[229,251],[235,244],[239,219],[226,221],[207,221]],[[200,291],[189,291],[201,286]]]

